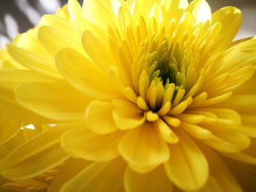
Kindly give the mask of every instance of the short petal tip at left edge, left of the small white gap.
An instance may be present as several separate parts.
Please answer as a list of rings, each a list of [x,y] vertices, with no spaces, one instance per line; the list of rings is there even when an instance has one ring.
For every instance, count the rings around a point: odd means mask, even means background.
[[[12,139],[20,131],[21,123],[10,118],[0,118],[0,145]]]

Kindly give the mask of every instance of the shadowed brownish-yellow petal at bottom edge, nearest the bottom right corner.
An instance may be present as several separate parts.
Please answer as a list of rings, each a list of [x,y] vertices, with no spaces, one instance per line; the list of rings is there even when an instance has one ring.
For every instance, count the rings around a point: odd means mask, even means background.
[[[208,147],[203,147],[203,153],[206,155],[211,173],[202,190],[203,192],[243,191],[235,177],[233,177],[233,174],[222,159],[219,158],[217,153],[214,153],[214,151]]]

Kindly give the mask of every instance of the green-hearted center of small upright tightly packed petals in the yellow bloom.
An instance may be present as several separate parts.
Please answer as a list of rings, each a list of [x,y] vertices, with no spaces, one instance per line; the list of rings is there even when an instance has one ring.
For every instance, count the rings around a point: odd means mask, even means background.
[[[147,112],[148,120],[176,115],[187,108],[192,101],[188,93],[197,82],[195,64],[186,43],[181,47],[167,36],[154,34],[140,44],[132,76],[138,106]]]

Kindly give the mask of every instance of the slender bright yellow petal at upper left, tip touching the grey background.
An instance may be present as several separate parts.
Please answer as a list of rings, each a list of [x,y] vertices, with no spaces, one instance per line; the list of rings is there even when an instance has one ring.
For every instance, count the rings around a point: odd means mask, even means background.
[[[15,45],[8,45],[8,52],[12,55],[12,58],[14,58],[15,61],[18,61],[18,63],[39,74],[61,78],[53,58],[50,58],[49,56],[32,53],[29,50],[24,50]]]

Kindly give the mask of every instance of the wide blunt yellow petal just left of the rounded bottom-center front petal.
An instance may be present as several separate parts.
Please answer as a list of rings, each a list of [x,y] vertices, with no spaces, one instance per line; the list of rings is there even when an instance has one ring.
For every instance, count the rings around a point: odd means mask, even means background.
[[[110,161],[118,154],[117,145],[123,133],[94,134],[86,128],[67,131],[62,138],[62,145],[69,155],[89,161]]]

